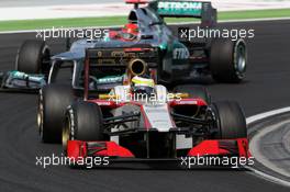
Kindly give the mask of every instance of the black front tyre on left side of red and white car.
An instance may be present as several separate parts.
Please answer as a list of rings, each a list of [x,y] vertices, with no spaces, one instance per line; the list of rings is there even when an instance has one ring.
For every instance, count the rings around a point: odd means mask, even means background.
[[[77,101],[69,105],[63,126],[63,148],[68,140],[104,140],[101,108],[96,103]]]

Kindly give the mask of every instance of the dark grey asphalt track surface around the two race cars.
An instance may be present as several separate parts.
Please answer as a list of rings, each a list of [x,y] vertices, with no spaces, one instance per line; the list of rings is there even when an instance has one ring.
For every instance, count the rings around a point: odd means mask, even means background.
[[[207,81],[213,100],[236,100],[247,116],[290,104],[290,21],[224,24],[253,27],[248,41],[248,72],[241,84]],[[0,70],[13,68],[20,44],[35,34],[0,36]],[[55,52],[64,49],[49,42]],[[190,87],[190,86],[189,86]],[[215,191],[272,192],[288,188],[241,170],[71,170],[65,166],[43,169],[35,156],[60,154],[62,147],[44,145],[36,132],[36,95],[0,93],[0,191]]]

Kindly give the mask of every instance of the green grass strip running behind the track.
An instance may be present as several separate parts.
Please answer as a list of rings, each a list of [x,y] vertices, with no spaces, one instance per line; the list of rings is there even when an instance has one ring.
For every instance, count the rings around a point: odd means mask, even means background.
[[[290,9],[279,10],[254,10],[254,11],[226,11],[219,12],[219,20],[243,20],[264,18],[287,18]],[[190,22],[194,19],[166,19],[167,23]],[[54,27],[86,27],[86,26],[111,26],[126,23],[126,16],[103,18],[74,18],[74,19],[47,19],[47,20],[23,20],[0,21],[0,31],[40,30]]]

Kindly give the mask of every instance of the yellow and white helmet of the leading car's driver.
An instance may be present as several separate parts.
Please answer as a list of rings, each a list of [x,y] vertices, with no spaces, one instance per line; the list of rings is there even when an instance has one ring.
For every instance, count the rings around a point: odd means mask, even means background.
[[[140,97],[150,95],[154,93],[154,80],[149,78],[135,76],[132,78],[132,93]]]

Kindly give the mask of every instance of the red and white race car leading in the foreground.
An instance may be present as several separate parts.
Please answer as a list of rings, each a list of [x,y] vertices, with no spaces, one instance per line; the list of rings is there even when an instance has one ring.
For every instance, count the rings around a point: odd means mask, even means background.
[[[204,88],[169,93],[141,59],[109,94],[93,92],[94,49],[87,50],[85,95],[66,111],[63,146],[67,157],[179,159],[197,156],[249,157],[247,126],[236,102],[211,103]],[[108,67],[108,66],[107,66]],[[137,95],[136,95],[137,93]]]

